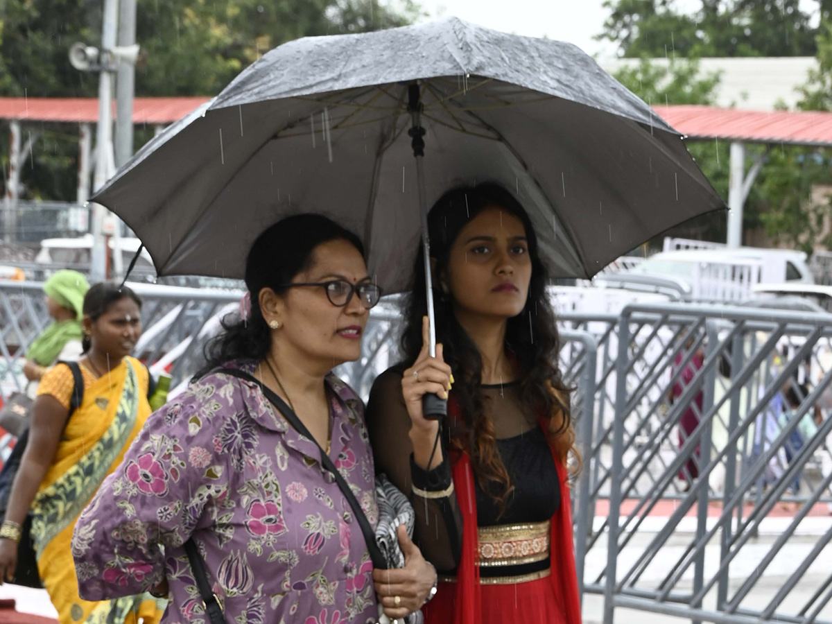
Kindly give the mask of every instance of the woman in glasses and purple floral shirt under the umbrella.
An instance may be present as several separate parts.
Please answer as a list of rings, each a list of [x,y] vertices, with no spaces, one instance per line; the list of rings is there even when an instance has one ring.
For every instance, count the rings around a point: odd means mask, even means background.
[[[364,405],[330,372],[358,359],[381,295],[364,248],[324,216],[291,216],[255,240],[245,284],[242,318],[224,323],[206,368],[151,416],[82,514],[81,594],[152,588],[170,597],[164,622],[374,622]],[[417,611],[436,581],[401,530],[399,542],[406,565],[384,573],[397,587],[390,617]]]

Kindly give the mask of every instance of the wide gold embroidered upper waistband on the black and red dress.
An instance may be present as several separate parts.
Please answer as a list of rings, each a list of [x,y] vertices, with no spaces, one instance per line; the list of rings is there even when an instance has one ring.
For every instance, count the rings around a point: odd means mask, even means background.
[[[478,565],[520,566],[549,556],[549,521],[480,527]]]

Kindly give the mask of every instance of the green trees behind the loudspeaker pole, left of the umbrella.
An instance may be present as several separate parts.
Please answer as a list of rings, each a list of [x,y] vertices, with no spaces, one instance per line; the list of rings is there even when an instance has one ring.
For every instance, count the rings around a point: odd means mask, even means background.
[[[97,75],[68,60],[74,42],[97,45],[102,0],[0,0],[0,96],[95,97]],[[144,0],[136,16],[143,49],[137,96],[213,96],[272,47],[298,37],[404,26],[420,15],[414,0]],[[28,128],[31,130],[32,128]],[[24,197],[75,196],[75,128],[35,129],[22,171]],[[136,148],[151,131],[136,132]],[[27,136],[24,136],[24,141]],[[0,162],[7,168],[7,142]]]

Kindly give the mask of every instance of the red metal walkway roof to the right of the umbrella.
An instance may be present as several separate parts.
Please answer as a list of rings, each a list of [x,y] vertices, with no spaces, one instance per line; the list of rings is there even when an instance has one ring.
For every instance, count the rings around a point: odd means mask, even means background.
[[[690,139],[832,146],[832,112],[740,111],[711,106],[654,106]]]

